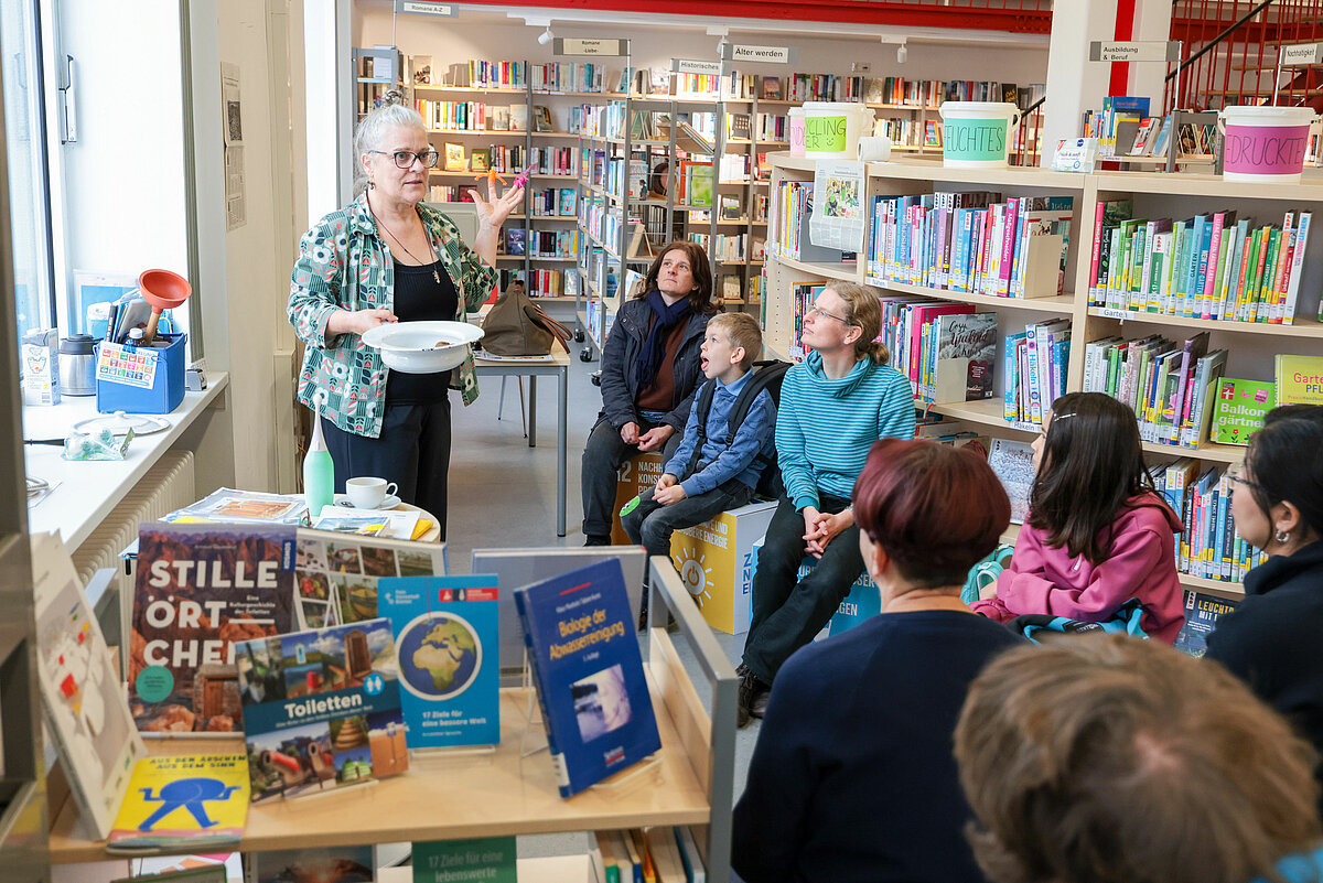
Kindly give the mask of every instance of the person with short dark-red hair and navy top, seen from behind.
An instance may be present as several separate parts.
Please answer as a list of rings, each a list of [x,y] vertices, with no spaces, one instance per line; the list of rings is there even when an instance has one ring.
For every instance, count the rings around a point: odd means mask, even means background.
[[[732,866],[765,880],[982,883],[951,734],[983,664],[1021,638],[960,603],[1011,504],[986,460],[882,439],[855,482],[881,615],[777,675],[734,812]]]

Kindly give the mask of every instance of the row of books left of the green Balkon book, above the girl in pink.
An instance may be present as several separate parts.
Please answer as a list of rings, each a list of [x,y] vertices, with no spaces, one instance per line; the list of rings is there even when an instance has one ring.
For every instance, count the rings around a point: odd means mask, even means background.
[[[1193,448],[1208,438],[1226,354],[1209,352],[1208,332],[1183,344],[1158,334],[1105,337],[1085,346],[1084,390],[1134,408],[1144,441]]]

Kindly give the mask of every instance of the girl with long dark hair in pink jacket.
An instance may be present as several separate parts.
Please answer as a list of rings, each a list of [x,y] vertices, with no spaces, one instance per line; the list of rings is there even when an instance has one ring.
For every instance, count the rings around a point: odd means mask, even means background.
[[[1185,619],[1180,518],[1154,490],[1134,412],[1102,393],[1053,402],[1033,441],[1029,514],[996,595],[970,607],[999,621],[1050,613],[1095,623],[1138,597],[1142,627],[1172,644]]]

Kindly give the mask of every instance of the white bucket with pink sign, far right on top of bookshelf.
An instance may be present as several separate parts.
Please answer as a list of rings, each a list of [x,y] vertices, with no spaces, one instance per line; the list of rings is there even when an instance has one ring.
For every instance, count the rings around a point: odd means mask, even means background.
[[[1224,107],[1222,178],[1299,184],[1312,122],[1310,107]]]

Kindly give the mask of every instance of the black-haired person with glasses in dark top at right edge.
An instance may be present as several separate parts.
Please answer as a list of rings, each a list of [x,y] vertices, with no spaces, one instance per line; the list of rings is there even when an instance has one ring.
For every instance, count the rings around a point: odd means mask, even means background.
[[[1245,600],[1217,623],[1207,658],[1323,751],[1323,407],[1269,411],[1230,477],[1236,530],[1269,558],[1245,575]]]

